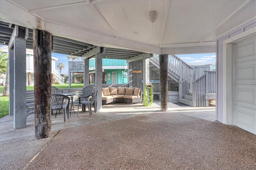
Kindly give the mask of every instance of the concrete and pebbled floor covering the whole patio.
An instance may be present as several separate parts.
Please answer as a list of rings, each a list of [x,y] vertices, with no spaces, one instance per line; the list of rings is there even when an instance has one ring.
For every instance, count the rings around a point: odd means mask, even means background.
[[[214,122],[214,107],[172,105],[107,105],[67,123],[54,115],[52,136],[39,140],[33,115],[17,130],[4,117],[0,169],[256,169],[255,135]]]

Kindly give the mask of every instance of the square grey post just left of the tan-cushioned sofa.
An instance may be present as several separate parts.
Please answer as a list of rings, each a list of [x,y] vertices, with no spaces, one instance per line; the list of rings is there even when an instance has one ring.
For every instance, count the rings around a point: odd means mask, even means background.
[[[95,55],[95,91],[98,91],[96,96],[96,111],[102,108],[102,53]]]

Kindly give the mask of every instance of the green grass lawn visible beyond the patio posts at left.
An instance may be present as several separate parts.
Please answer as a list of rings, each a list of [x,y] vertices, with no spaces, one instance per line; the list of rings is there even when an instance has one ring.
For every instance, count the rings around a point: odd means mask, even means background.
[[[68,88],[68,83],[54,84],[57,88]],[[83,88],[83,83],[71,83],[71,88]],[[27,86],[27,90],[34,90],[34,86]],[[0,86],[0,93],[4,91],[4,86]],[[9,114],[9,97],[0,96],[0,118]]]

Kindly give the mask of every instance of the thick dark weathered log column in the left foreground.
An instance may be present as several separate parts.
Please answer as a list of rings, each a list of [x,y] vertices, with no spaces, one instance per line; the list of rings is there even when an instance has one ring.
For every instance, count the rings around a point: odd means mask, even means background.
[[[33,31],[33,49],[35,137],[41,139],[52,135],[52,34],[48,31],[35,29]]]

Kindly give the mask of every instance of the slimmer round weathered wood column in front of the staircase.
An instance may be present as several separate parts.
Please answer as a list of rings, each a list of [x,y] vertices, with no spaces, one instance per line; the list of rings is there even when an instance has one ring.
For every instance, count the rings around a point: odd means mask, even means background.
[[[168,111],[168,55],[159,55],[161,110]]]

